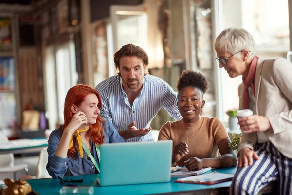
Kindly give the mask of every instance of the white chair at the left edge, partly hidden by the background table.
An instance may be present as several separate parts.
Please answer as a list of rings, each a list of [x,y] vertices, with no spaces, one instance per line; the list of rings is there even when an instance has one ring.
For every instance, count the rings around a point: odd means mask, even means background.
[[[0,133],[0,143],[8,142],[8,137]],[[27,172],[27,164],[14,165],[14,155],[12,153],[0,155],[0,180],[11,177],[13,173],[13,179],[16,180],[16,173],[18,171],[25,170]]]

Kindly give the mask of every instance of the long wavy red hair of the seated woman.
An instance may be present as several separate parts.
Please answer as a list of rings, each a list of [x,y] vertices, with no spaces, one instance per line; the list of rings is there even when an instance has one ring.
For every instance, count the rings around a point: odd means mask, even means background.
[[[67,92],[66,98],[65,98],[65,104],[64,104],[64,125],[62,127],[62,130],[67,127],[67,125],[72,120],[74,113],[71,110],[72,105],[80,106],[81,103],[85,100],[85,97],[89,94],[95,94],[98,99],[98,109],[101,108],[101,98],[97,91],[95,91],[92,87],[87,85],[76,85],[72,88],[70,88]],[[94,143],[96,143],[98,146],[105,141],[105,137],[103,135],[103,127],[104,127],[104,121],[101,117],[97,117],[96,123],[91,124],[89,131],[87,132],[87,136],[92,140]],[[77,129],[76,129],[77,130]],[[68,150],[68,156],[75,157],[76,149],[75,149],[75,143],[73,142],[72,148]]]

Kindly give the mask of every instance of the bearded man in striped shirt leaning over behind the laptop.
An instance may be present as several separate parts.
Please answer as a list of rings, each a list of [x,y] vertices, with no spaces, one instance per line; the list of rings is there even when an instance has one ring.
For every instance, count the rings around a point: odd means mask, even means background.
[[[118,75],[95,90],[102,100],[100,116],[109,119],[126,141],[153,141],[149,125],[161,108],[182,119],[177,93],[164,80],[148,75],[148,55],[141,47],[124,45],[114,54],[114,63]]]

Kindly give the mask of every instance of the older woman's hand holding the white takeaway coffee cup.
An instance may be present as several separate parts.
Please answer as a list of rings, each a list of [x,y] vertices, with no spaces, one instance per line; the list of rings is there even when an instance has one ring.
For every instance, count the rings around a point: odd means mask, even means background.
[[[240,129],[244,133],[266,131],[272,128],[269,119],[264,116],[252,115],[250,117],[241,117],[238,121]]]

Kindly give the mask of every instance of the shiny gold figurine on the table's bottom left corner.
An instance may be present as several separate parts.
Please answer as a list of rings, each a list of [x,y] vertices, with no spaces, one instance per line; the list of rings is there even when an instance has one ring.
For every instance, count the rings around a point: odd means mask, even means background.
[[[3,195],[28,195],[32,192],[31,185],[23,179],[5,179],[4,182],[7,188],[3,189]]]

